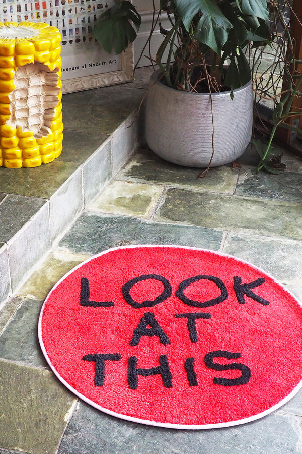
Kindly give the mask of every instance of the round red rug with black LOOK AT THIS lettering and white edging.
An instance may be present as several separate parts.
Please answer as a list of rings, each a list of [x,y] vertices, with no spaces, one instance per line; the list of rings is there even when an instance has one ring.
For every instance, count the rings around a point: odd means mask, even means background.
[[[48,295],[39,340],[81,399],[157,426],[249,422],[302,380],[297,300],[248,263],[188,247],[120,247],[82,263]]]

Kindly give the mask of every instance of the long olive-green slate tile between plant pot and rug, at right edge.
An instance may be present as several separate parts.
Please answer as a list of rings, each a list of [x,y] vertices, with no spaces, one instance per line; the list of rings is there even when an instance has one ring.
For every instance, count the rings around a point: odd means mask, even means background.
[[[302,204],[168,189],[156,220],[266,236],[302,238]]]

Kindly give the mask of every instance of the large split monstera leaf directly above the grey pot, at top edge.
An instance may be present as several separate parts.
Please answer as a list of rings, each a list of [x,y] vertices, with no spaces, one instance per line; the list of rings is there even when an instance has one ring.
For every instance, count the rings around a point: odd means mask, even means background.
[[[220,53],[233,25],[218,8],[215,0],[175,0],[175,7],[186,30],[193,33],[197,41]],[[202,15],[192,30],[192,21],[198,13]]]

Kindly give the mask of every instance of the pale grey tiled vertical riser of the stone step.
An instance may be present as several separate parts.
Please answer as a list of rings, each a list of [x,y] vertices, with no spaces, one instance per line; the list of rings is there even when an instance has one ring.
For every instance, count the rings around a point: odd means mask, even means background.
[[[0,311],[88,204],[129,160],[141,139],[132,112],[5,244],[0,245]]]

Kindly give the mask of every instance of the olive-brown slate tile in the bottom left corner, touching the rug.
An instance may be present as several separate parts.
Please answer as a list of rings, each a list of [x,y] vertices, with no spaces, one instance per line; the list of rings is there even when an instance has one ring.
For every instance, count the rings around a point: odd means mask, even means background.
[[[52,372],[0,360],[0,447],[55,454],[74,397]]]

